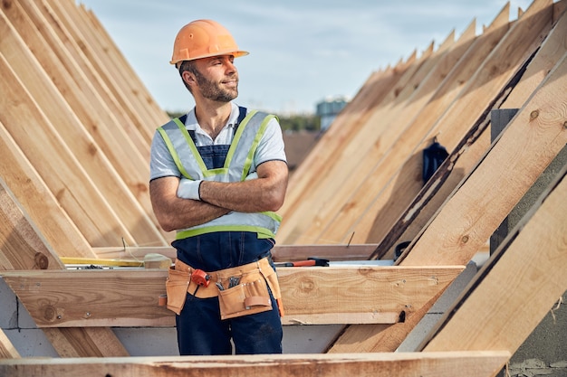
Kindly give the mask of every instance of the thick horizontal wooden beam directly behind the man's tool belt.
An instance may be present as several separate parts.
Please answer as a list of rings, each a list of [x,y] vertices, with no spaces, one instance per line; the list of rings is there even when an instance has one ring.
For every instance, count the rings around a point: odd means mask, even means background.
[[[443,291],[463,269],[278,269],[283,323],[398,322],[400,315],[415,312]],[[168,271],[6,271],[1,275],[40,327],[174,325],[173,313],[158,306]]]

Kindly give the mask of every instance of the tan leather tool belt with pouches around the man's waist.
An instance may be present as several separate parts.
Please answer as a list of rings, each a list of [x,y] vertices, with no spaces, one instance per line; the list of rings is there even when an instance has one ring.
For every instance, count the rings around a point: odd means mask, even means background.
[[[169,268],[166,306],[177,315],[185,305],[187,293],[197,298],[218,297],[221,319],[228,319],[272,310],[272,291],[280,316],[283,316],[277,275],[267,258],[243,266],[207,272],[210,277],[208,287],[198,286],[192,281],[191,274],[194,270],[179,259]]]

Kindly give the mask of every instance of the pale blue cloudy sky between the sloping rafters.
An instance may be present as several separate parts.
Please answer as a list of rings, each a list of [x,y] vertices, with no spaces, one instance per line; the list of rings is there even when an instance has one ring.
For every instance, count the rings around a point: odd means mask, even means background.
[[[491,24],[505,0],[76,0],[111,35],[159,106],[188,111],[190,93],[169,64],[173,41],[189,22],[223,24],[238,47],[239,96],[247,108],[278,115],[313,113],[324,99],[351,99],[374,71],[456,38],[476,20]],[[510,1],[510,20],[531,0]]]

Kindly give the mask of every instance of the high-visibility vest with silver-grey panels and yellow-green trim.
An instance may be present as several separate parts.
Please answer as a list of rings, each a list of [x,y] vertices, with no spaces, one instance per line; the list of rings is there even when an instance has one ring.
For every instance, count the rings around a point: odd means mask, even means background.
[[[240,109],[243,110],[245,111],[245,108]],[[207,168],[193,138],[179,118],[172,119],[159,127],[158,131],[168,146],[179,172],[187,179],[241,182],[245,180],[254,164],[255,150],[272,118],[275,118],[274,115],[260,111],[248,112],[236,128],[235,136],[226,154],[225,165],[215,169]],[[179,230],[176,240],[215,231],[252,231],[258,234],[258,238],[274,238],[281,221],[282,217],[275,212],[233,211],[205,224]]]

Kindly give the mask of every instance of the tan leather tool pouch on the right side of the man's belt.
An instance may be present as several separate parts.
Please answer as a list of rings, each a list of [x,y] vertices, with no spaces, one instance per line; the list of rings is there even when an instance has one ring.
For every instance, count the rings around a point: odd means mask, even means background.
[[[272,298],[259,273],[244,276],[236,287],[218,291],[221,319],[249,316],[272,310]]]

